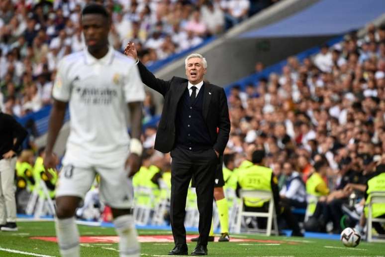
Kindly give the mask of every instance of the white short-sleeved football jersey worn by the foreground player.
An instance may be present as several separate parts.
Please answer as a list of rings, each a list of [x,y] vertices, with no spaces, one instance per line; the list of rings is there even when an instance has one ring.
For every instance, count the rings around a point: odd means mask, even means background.
[[[63,164],[117,166],[128,155],[127,103],[143,101],[135,61],[109,48],[101,59],[87,49],[64,57],[52,92],[69,102],[70,136]]]

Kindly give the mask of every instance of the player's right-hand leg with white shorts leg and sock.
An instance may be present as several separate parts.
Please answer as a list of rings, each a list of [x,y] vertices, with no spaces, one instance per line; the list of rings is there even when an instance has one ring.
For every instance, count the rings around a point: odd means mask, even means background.
[[[100,174],[100,197],[111,207],[113,223],[119,237],[120,257],[139,257],[140,245],[133,218],[134,191],[124,163],[119,168],[97,167]]]

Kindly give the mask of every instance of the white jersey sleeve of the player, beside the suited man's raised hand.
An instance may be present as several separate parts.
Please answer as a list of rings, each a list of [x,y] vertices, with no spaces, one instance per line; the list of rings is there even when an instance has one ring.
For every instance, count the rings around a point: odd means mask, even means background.
[[[124,98],[127,103],[143,102],[145,98],[144,85],[135,64],[130,67],[125,77]]]

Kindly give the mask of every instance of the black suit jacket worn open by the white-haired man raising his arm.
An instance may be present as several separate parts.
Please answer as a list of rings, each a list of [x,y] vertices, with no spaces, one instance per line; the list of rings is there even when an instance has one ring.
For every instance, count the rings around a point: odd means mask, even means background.
[[[180,77],[173,77],[170,81],[157,79],[141,62],[138,63],[138,68],[143,83],[165,98],[154,148],[164,153],[170,152],[175,143],[175,117],[178,112],[178,103],[189,81]],[[203,118],[210,134],[212,148],[222,154],[230,134],[226,95],[223,88],[209,83],[204,83],[202,89]]]

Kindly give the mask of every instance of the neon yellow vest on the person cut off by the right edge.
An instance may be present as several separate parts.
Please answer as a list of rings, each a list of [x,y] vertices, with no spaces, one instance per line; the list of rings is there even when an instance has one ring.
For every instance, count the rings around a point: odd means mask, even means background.
[[[368,199],[366,203],[369,204],[371,199],[371,192],[381,191],[385,192],[385,172],[371,178],[368,180]],[[372,205],[372,216],[373,218],[382,216],[385,214],[385,204],[384,203],[374,203]],[[365,207],[365,216],[368,217],[368,207]]]

